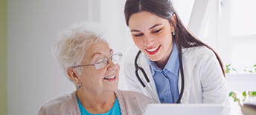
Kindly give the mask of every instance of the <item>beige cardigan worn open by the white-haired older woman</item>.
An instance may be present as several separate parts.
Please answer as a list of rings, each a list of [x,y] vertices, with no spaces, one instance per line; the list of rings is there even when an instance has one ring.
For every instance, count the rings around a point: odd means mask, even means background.
[[[153,100],[133,91],[115,91],[122,115],[141,115]],[[38,115],[80,115],[76,91],[46,102]]]

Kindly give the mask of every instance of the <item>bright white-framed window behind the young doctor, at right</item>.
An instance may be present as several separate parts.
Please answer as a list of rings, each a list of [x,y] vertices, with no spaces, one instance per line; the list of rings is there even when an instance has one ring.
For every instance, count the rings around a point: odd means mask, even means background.
[[[255,4],[255,0],[195,0],[188,24],[220,54],[224,65],[231,64],[239,73],[256,65]]]

